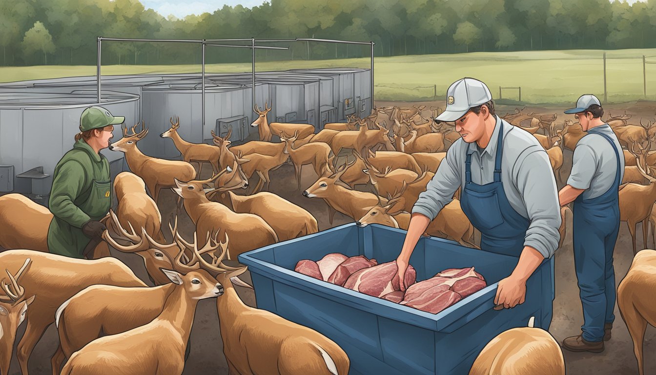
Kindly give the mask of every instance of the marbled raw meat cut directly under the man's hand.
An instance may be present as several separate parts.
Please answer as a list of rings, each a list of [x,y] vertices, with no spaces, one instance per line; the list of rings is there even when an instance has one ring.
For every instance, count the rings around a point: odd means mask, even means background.
[[[382,297],[386,294],[401,290],[396,275],[396,261],[382,263],[374,267],[361,269],[348,277],[344,288],[368,294],[373,297]],[[417,271],[408,265],[405,272],[405,285],[410,286],[417,280]]]

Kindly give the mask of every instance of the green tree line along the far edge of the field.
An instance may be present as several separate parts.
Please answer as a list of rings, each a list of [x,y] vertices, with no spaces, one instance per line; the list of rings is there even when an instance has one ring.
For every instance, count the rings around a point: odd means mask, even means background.
[[[656,47],[656,0],[272,0],[177,19],[137,0],[0,0],[3,66],[96,62],[96,37],[374,41],[375,56]],[[266,59],[368,56],[369,47],[289,43]],[[250,51],[210,49],[208,61]],[[200,47],[110,42],[103,64],[197,63]]]

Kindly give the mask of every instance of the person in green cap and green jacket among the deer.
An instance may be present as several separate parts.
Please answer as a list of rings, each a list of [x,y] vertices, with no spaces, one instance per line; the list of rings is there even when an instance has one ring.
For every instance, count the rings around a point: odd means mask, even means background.
[[[108,148],[113,125],[125,117],[112,116],[100,106],[85,109],[73,149],[54,168],[49,208],[48,249],[53,254],[82,258],[92,239],[107,228],[100,223],[112,207],[110,164],[100,150]]]

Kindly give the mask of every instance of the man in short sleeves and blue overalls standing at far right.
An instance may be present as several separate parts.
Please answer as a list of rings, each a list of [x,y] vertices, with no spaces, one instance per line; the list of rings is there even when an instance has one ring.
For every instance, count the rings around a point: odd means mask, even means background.
[[[602,121],[604,108],[594,95],[583,95],[575,114],[583,131],[574,150],[567,185],[558,193],[561,206],[574,202],[574,266],[583,305],[582,333],[563,341],[570,351],[604,351],[611,338],[615,309],[613,250],[619,232],[619,185],[624,152],[613,129]]]

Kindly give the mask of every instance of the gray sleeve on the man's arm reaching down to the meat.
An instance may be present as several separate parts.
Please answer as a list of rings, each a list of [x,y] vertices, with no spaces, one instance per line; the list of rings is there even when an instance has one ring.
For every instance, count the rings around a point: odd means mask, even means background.
[[[420,213],[428,219],[435,219],[440,210],[453,200],[453,194],[461,183],[461,169],[455,159],[455,147],[451,146],[437,173],[428,181],[426,190],[419,194],[411,213]]]

